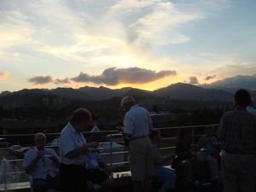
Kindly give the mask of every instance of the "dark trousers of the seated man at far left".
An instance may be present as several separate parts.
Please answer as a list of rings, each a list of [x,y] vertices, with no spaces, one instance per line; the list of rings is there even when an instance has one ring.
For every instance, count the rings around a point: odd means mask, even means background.
[[[33,192],[46,192],[47,189],[55,189],[61,191],[60,175],[51,177],[47,174],[46,179],[35,178],[33,179]]]

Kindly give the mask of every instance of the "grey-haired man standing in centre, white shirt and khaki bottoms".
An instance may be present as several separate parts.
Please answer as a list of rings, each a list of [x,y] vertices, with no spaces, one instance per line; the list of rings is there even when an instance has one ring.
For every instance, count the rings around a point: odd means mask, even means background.
[[[117,127],[125,137],[129,137],[129,164],[133,182],[133,192],[149,192],[149,177],[154,175],[151,142],[148,131],[153,129],[148,110],[140,108],[131,96],[121,102],[126,114],[125,127]]]

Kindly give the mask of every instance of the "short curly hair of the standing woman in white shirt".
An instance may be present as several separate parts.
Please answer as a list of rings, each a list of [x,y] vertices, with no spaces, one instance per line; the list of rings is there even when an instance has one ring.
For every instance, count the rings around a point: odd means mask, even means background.
[[[86,108],[79,108],[73,112],[69,122],[72,125],[76,125],[83,121],[85,121],[85,123],[88,124],[90,122],[90,120],[91,120],[90,111],[87,110]]]

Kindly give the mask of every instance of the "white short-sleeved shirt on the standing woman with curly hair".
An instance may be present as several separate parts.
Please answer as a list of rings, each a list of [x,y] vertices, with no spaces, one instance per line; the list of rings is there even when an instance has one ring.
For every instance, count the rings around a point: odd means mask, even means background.
[[[73,125],[67,123],[64,129],[61,131],[60,136],[60,154],[61,162],[65,165],[85,165],[84,154],[79,154],[79,156],[68,159],[66,154],[73,151],[75,148],[80,148],[86,144],[83,133],[78,133],[73,128]]]

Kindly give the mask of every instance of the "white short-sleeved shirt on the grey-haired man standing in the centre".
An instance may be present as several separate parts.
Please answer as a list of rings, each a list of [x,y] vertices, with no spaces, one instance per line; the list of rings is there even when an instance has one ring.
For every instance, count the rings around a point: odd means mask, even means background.
[[[152,120],[145,108],[134,105],[125,113],[124,119],[125,133],[131,134],[131,138],[148,135],[148,131],[153,129]]]

